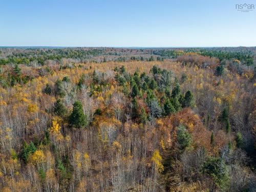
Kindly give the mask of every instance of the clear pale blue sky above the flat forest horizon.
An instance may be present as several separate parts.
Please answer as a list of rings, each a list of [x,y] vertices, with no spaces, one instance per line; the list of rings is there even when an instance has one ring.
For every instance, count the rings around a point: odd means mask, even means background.
[[[256,10],[215,0],[0,0],[0,46],[256,46]]]

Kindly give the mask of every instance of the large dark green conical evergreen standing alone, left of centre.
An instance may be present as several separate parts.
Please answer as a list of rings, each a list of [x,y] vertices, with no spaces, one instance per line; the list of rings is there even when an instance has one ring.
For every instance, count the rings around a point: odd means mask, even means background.
[[[87,116],[83,113],[82,103],[80,101],[76,101],[73,104],[73,112],[70,115],[69,122],[76,128],[81,128],[88,124]]]

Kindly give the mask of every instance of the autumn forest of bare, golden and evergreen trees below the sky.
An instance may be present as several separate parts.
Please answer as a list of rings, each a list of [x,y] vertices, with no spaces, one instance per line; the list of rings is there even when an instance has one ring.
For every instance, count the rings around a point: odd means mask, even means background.
[[[1,48],[0,191],[256,191],[255,55]]]

